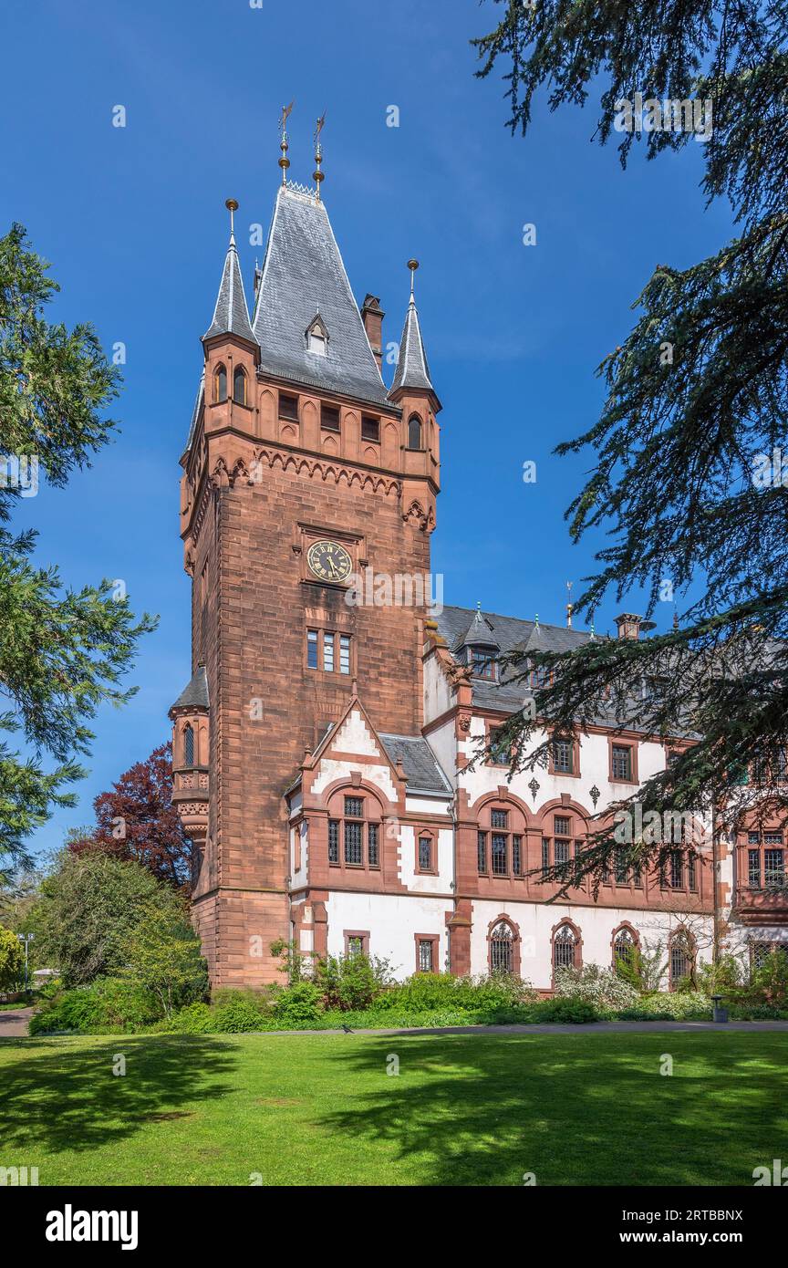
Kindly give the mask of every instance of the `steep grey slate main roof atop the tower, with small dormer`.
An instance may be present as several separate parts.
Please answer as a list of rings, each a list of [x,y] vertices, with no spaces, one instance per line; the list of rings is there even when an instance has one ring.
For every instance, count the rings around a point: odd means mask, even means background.
[[[324,356],[307,346],[305,331],[315,313],[329,335]],[[252,326],[264,373],[386,403],[328,213],[309,193],[286,185],[279,190]]]

